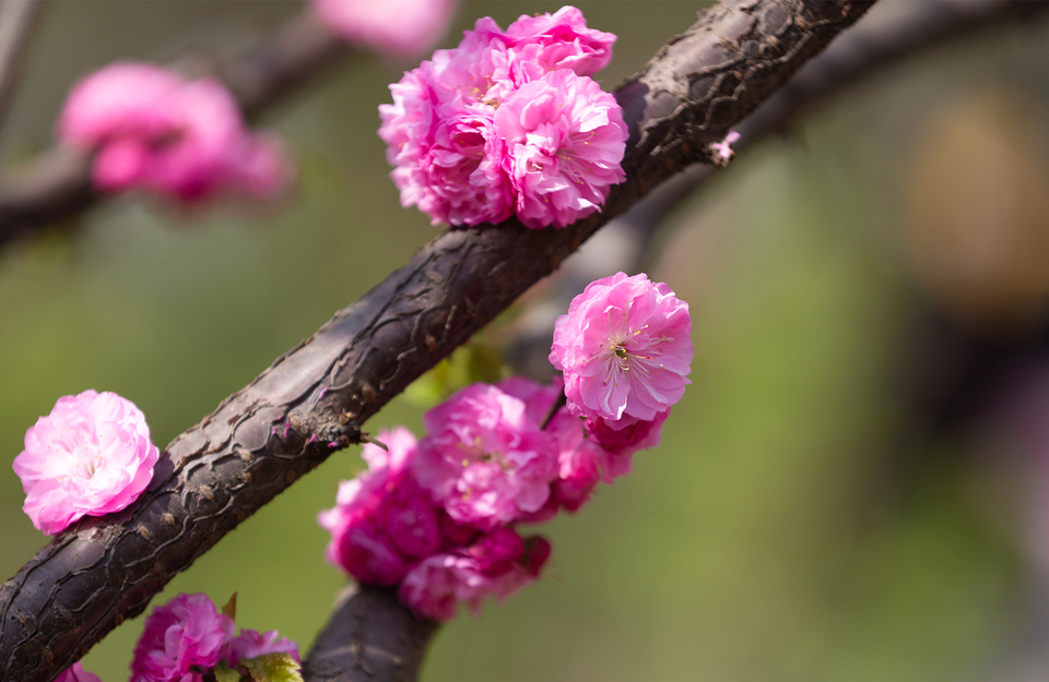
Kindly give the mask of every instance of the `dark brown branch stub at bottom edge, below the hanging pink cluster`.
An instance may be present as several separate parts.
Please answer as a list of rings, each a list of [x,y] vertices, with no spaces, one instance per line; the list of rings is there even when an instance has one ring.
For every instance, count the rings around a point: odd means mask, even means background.
[[[351,584],[303,663],[305,682],[414,682],[434,633],[393,590]]]

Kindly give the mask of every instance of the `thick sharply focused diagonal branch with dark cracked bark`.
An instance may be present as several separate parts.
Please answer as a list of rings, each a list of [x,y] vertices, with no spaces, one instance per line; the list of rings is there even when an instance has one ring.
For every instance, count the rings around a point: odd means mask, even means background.
[[[450,230],[168,446],[130,508],[55,538],[0,587],[4,680],[46,681],[331,452],[851,25],[870,1],[733,0],[616,96],[632,131],[603,214],[562,230]]]

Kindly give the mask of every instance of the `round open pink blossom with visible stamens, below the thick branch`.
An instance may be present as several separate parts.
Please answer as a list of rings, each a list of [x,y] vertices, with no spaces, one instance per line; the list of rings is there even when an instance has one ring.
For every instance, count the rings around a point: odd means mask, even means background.
[[[613,430],[655,420],[681,399],[692,362],[688,304],[645,274],[591,283],[554,325],[550,361],[573,414]]]

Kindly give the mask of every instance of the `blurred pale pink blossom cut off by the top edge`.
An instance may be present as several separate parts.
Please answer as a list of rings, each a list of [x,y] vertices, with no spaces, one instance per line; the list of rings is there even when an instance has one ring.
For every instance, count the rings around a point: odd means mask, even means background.
[[[313,0],[314,11],[351,43],[396,57],[433,48],[448,31],[455,0]]]

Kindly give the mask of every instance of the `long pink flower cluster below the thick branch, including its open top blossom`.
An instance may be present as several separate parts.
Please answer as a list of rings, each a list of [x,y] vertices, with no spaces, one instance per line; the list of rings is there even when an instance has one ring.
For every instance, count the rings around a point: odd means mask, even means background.
[[[592,283],[555,328],[564,383],[474,384],[426,412],[422,441],[397,429],[379,435],[388,450],[365,445],[368,470],[318,517],[328,560],[399,585],[403,603],[435,620],[537,579],[550,545],[517,525],[578,511],[659,444],[688,383],[691,328],[665,284],[623,273]]]

